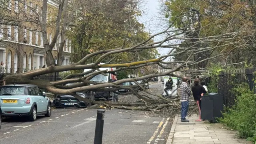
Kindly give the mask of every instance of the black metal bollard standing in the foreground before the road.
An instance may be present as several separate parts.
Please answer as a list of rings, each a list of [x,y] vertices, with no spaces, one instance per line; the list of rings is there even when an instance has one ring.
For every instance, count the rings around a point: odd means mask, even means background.
[[[103,126],[105,110],[97,110],[94,144],[102,144]]]

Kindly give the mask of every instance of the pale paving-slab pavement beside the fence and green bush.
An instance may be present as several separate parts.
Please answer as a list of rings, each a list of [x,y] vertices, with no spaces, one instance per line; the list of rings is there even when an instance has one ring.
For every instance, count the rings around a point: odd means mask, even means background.
[[[197,115],[187,119],[190,122],[180,122],[180,116],[174,118],[166,144],[252,144],[238,138],[236,131],[228,130],[222,124],[196,122]]]

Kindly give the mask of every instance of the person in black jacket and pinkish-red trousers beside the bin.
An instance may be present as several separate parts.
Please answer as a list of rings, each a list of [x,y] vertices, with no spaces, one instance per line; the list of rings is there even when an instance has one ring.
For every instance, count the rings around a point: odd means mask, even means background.
[[[199,109],[199,119],[196,121],[202,121],[201,120],[201,94],[206,93],[205,89],[203,86],[199,85],[199,80],[195,79],[194,80],[194,86],[191,88],[194,100],[196,101],[196,104],[198,105]]]

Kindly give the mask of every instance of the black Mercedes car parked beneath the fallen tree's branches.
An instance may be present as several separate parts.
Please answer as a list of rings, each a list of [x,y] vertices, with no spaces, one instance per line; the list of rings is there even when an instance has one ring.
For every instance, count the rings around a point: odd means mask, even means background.
[[[77,95],[82,98],[89,99],[90,95],[93,95],[93,92],[76,92]],[[74,96],[67,94],[58,94],[53,101],[56,108],[86,108],[88,106],[87,102],[78,100]]]

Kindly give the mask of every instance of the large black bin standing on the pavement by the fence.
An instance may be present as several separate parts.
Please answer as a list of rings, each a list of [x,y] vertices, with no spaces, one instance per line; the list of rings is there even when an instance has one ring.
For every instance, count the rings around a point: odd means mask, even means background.
[[[201,118],[216,122],[216,118],[222,117],[223,96],[218,93],[210,93],[208,96],[202,96]]]

